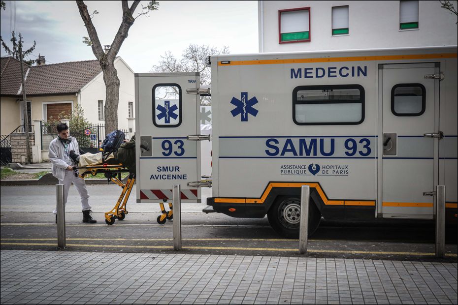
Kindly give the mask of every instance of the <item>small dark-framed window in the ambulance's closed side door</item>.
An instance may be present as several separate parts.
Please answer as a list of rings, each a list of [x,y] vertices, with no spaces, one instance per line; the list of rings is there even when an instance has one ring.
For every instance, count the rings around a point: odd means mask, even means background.
[[[395,116],[421,116],[425,104],[425,86],[422,84],[397,84],[391,90],[391,112]]]

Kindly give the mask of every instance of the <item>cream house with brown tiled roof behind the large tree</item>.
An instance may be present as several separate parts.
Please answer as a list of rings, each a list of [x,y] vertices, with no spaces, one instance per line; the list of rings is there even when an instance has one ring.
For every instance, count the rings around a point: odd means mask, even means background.
[[[121,83],[118,127],[134,132],[134,72],[121,57],[114,64]],[[55,119],[62,111],[70,113],[76,103],[83,107],[89,122],[104,124],[105,83],[97,60],[46,64],[40,56],[36,66],[24,64],[24,73],[29,124]],[[12,57],[1,58],[0,97],[0,127],[5,135],[24,124],[20,62]]]

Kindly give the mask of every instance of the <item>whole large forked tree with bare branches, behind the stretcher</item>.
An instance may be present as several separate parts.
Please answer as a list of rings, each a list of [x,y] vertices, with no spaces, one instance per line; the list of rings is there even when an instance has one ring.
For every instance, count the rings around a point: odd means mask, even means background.
[[[92,23],[92,18],[97,11],[94,11],[93,14],[89,14],[88,7],[84,4],[84,1],[77,0],[76,4],[78,5],[78,10],[83,19],[84,25],[88,30],[89,37],[86,40],[86,44],[91,46],[92,52],[96,56],[100,67],[103,72],[103,81],[105,83],[106,91],[106,102],[105,102],[105,133],[118,129],[118,103],[119,103],[119,78],[118,72],[114,66],[114,60],[116,55],[119,52],[124,40],[128,36],[129,29],[133,25],[136,18],[141,15],[147,14],[149,11],[157,10],[159,8],[158,1],[149,1],[147,6],[142,5],[141,11],[137,14],[136,17],[133,17],[135,9],[137,8],[139,0],[133,1],[131,7],[129,7],[128,1],[121,1],[123,8],[123,17],[121,25],[119,26],[118,32],[116,33],[111,47],[108,52],[105,52],[102,49],[100,40],[98,39],[97,30]]]

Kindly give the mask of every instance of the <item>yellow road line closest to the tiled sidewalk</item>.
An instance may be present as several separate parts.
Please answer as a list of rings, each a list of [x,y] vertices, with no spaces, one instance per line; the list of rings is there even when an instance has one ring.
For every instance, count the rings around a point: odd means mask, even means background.
[[[57,244],[45,243],[0,243],[0,245],[44,245],[56,246]],[[123,244],[66,244],[67,246],[79,247],[108,247],[108,248],[148,248],[148,249],[173,249],[172,246],[166,245],[123,245]],[[242,250],[242,251],[277,251],[277,252],[298,252],[298,248],[246,248],[246,247],[210,247],[210,246],[186,246],[183,249],[198,249],[198,250]],[[417,255],[417,256],[434,256],[431,252],[395,252],[395,251],[348,251],[348,250],[315,250],[308,249],[312,253],[347,253],[347,254],[385,254],[385,255]],[[455,253],[446,253],[445,256],[458,257]]]

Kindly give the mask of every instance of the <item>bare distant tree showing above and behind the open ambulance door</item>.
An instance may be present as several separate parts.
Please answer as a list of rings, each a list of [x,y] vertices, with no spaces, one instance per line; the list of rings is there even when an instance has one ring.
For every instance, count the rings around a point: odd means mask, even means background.
[[[211,70],[205,65],[205,57],[214,54],[229,54],[229,47],[223,46],[222,49],[218,49],[208,45],[190,44],[183,51],[181,59],[177,59],[170,51],[167,51],[164,56],[161,56],[159,63],[152,67],[151,72],[199,72],[200,86],[210,86]],[[211,100],[208,96],[202,96],[200,104],[202,106],[211,105]]]

